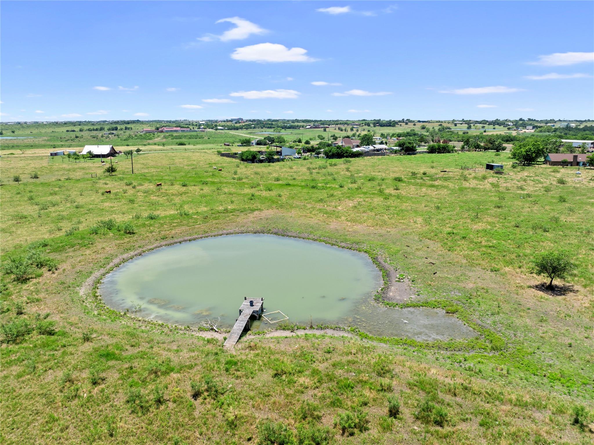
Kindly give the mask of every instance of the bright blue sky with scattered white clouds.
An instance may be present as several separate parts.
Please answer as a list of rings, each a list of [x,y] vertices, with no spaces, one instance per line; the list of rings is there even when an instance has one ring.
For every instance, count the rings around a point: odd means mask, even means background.
[[[1,119],[593,119],[593,17],[571,1],[2,1]]]

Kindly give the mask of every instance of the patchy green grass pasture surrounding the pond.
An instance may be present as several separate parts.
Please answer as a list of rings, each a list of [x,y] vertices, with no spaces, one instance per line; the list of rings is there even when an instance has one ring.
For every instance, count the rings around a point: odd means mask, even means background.
[[[3,443],[592,443],[593,169],[485,152],[248,164],[216,153],[241,135],[212,137],[129,140],[135,173],[118,156],[113,176],[49,159],[54,141],[2,141],[0,259],[41,258],[28,280],[2,276]],[[447,307],[481,335],[251,333],[228,351],[81,297],[119,255],[237,230],[380,255],[411,277],[406,305]],[[577,264],[556,292],[529,273],[543,250]]]

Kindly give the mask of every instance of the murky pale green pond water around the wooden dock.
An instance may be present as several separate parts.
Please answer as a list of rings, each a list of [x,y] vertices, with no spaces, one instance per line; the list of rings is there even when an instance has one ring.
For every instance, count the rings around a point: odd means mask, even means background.
[[[110,308],[183,326],[220,317],[220,327],[230,328],[244,297],[264,297],[265,315],[280,310],[288,321],[304,325],[311,319],[314,326],[356,326],[373,335],[417,340],[476,335],[443,310],[375,303],[373,296],[381,285],[380,270],[360,252],[247,233],[140,255],[109,273],[99,292]],[[279,317],[277,313],[269,318]],[[262,318],[252,323],[252,330],[274,326]]]

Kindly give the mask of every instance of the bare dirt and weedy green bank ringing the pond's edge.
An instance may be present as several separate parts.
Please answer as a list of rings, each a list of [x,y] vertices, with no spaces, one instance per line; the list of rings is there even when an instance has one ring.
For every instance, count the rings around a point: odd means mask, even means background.
[[[142,247],[140,249],[134,250],[129,253],[118,255],[114,258],[110,263],[103,267],[102,269],[97,270],[96,272],[92,273],[89,278],[83,283],[80,287],[80,296],[83,298],[83,303],[90,307],[94,314],[97,315],[102,313],[103,315],[108,316],[110,319],[119,318],[122,321],[132,321],[135,325],[140,324],[139,327],[144,329],[160,329],[160,330],[168,330],[172,333],[188,333],[199,335],[203,337],[210,337],[210,338],[218,338],[223,340],[225,336],[225,332],[212,332],[207,330],[206,328],[200,327],[189,327],[189,326],[179,326],[178,324],[168,324],[162,321],[156,320],[149,320],[147,318],[138,317],[137,315],[131,314],[129,312],[120,312],[113,310],[112,308],[108,307],[103,301],[102,296],[99,293],[99,285],[102,279],[115,270],[117,267],[121,266],[122,264],[126,263],[132,258],[138,257],[140,255],[149,253],[150,251],[157,250],[159,248],[168,247],[170,245],[181,244],[183,242],[189,241],[197,241],[198,239],[204,238],[214,238],[217,236],[225,236],[225,235],[239,235],[244,233],[253,233],[253,234],[262,234],[262,235],[277,235],[277,236],[286,236],[288,238],[298,238],[298,239],[305,239],[308,241],[315,241],[315,242],[323,242],[327,245],[332,245],[334,247],[339,247],[347,250],[357,251],[359,253],[366,254],[369,259],[374,263],[375,267],[378,268],[381,272],[382,276],[382,286],[379,288],[374,295],[374,301],[376,304],[384,305],[386,307],[392,308],[414,308],[414,307],[426,307],[426,308],[434,308],[434,309],[442,309],[445,310],[446,313],[455,314],[457,318],[463,323],[466,323],[469,327],[473,330],[478,332],[479,336],[474,337],[472,339],[462,339],[462,340],[434,340],[431,342],[424,342],[414,339],[408,339],[406,337],[384,337],[384,336],[373,336],[371,334],[365,333],[362,330],[356,327],[344,327],[344,326],[335,326],[335,325],[317,325],[317,326],[302,326],[295,323],[288,323],[283,324],[281,326],[273,327],[271,329],[263,330],[263,331],[255,331],[255,332],[248,332],[247,336],[274,336],[274,337],[282,337],[282,336],[293,336],[295,334],[323,334],[323,335],[333,335],[333,336],[349,336],[349,337],[356,337],[362,340],[371,341],[374,343],[384,343],[386,345],[392,346],[409,346],[413,348],[424,348],[424,349],[441,349],[447,351],[466,351],[466,352],[499,352],[504,348],[504,340],[498,336],[498,334],[492,332],[492,330],[481,326],[480,324],[476,323],[473,320],[472,314],[469,311],[465,310],[461,305],[455,304],[448,300],[441,300],[441,299],[432,299],[428,301],[421,301],[421,302],[393,302],[393,301],[386,301],[384,299],[394,283],[391,282],[390,276],[394,274],[394,270],[392,267],[384,260],[383,256],[380,252],[374,251],[371,248],[366,246],[360,246],[355,243],[347,243],[347,242],[340,242],[334,239],[330,239],[323,236],[315,236],[310,234],[298,233],[298,232],[289,232],[289,231],[280,231],[280,230],[265,230],[265,229],[228,229],[223,231],[217,232],[210,232],[210,233],[203,233],[200,235],[189,235],[183,236],[181,238],[170,239],[167,241],[162,241],[157,244],[149,245],[146,247]],[[486,342],[485,342],[486,340]],[[488,343],[487,343],[488,342]]]

